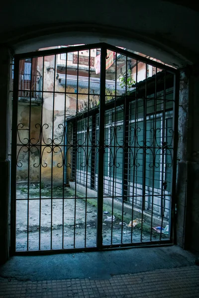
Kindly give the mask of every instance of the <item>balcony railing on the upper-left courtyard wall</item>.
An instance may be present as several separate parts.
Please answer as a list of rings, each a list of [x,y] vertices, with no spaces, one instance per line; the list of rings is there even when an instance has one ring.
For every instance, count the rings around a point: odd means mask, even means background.
[[[32,74],[19,74],[19,97],[28,98],[42,98],[42,79],[41,75]]]

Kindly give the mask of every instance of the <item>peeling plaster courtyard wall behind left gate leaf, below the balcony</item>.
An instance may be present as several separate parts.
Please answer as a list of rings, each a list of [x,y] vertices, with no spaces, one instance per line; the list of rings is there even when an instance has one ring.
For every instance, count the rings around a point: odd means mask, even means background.
[[[50,74],[49,74],[50,75]],[[51,88],[51,85],[49,85]],[[65,92],[65,87],[59,85],[56,81],[56,90]],[[74,92],[74,88],[67,87],[66,92]],[[79,89],[80,93],[88,92],[87,89]],[[42,167],[41,167],[41,181],[44,185],[51,185],[51,176],[53,186],[60,186],[63,184],[63,158],[64,158],[64,113],[65,113],[65,99],[66,99],[66,118],[74,116],[77,109],[77,96],[74,94],[60,94],[44,93],[43,108],[41,103],[37,106],[31,105],[31,124],[30,124],[30,139],[32,144],[38,144],[32,147],[30,151],[29,161],[29,178],[30,182],[39,183],[40,181],[40,150],[42,150]],[[78,96],[78,104],[80,105],[85,100],[88,100],[88,95],[80,94]],[[54,101],[54,105],[53,105]],[[54,108],[54,114],[53,114]],[[41,124],[41,110],[42,112],[42,147],[40,149],[40,126]],[[18,144],[27,143],[29,139],[29,102],[19,102],[18,104],[18,123],[19,138]],[[26,139],[27,138],[27,139]],[[55,147],[52,152],[52,138],[55,140]],[[39,141],[39,143],[38,143]],[[50,145],[50,146],[48,146]],[[17,166],[17,182],[27,182],[28,177],[28,151],[26,146],[18,148],[18,166]],[[24,152],[25,151],[25,152]],[[53,158],[53,159],[52,159]],[[68,152],[68,159],[70,158]],[[22,166],[21,166],[22,163]],[[53,171],[51,170],[53,166]]]

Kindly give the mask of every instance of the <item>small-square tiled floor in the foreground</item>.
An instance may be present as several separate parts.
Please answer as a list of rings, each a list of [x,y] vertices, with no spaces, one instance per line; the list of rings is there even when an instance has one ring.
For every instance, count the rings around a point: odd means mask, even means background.
[[[0,279],[0,298],[199,297],[199,266],[114,275],[106,280],[16,281]]]

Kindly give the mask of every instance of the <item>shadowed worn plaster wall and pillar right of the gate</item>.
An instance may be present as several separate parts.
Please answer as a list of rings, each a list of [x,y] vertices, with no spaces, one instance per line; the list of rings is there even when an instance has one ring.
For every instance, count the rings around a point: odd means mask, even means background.
[[[181,72],[176,241],[199,251],[199,67]]]

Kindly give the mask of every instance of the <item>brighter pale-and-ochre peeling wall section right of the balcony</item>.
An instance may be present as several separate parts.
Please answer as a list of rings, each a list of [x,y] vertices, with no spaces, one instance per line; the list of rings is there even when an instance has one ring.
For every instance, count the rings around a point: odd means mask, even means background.
[[[57,89],[59,91],[65,92],[65,87],[56,83]],[[74,92],[74,88],[67,87],[67,92]],[[80,93],[88,92],[87,89],[79,88]],[[48,138],[52,137],[55,140],[55,144],[59,145],[54,149],[53,152],[53,185],[59,186],[63,184],[63,158],[64,158],[64,139],[63,139],[63,125],[64,125],[64,113],[65,113],[65,99],[66,99],[66,118],[70,116],[74,116],[76,114],[77,109],[77,96],[75,94],[59,94],[55,93],[54,97],[54,116],[53,116],[53,96],[44,98],[43,101],[43,124],[48,124],[48,127],[43,130],[43,142],[45,145],[50,143]],[[78,105],[83,103],[85,100],[88,100],[88,95],[79,94],[78,95]],[[54,121],[53,121],[54,120]],[[53,134],[52,129],[54,126]],[[45,143],[44,143],[45,142]],[[45,185],[51,184],[51,166],[52,166],[52,153],[48,153],[49,149],[46,147],[43,153],[43,162],[46,162],[46,166],[42,167],[42,181]],[[70,158],[70,154],[68,152],[67,158]],[[71,161],[69,161],[71,163]],[[69,171],[69,170],[67,170]]]

